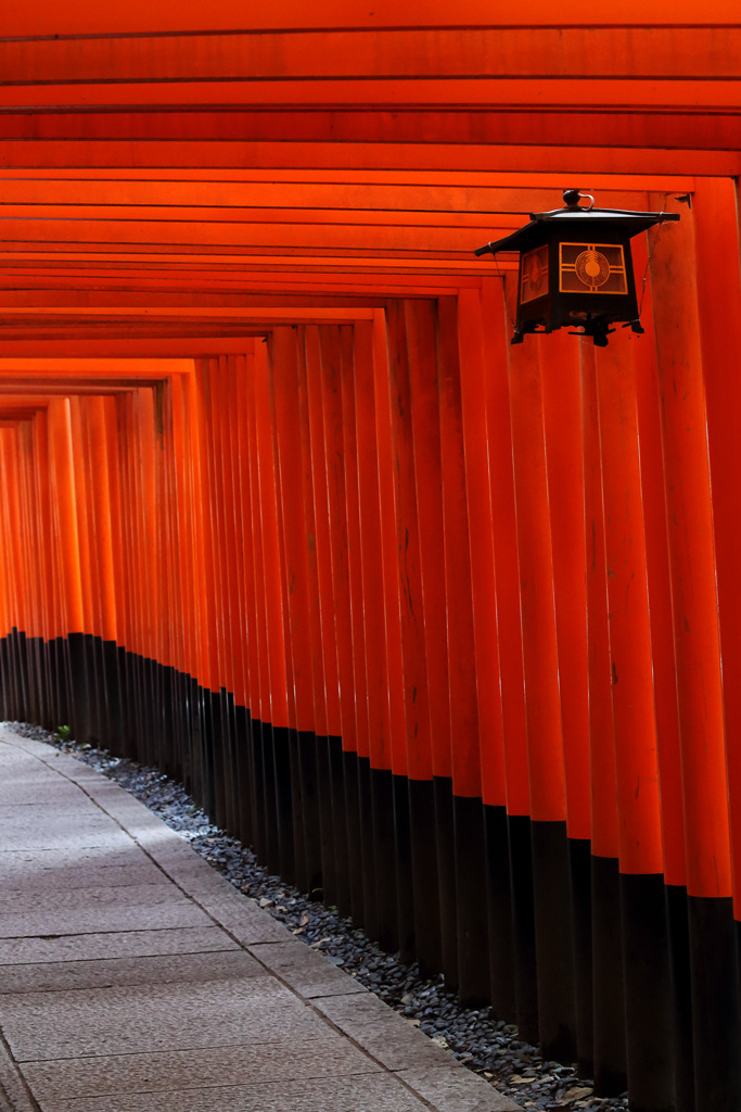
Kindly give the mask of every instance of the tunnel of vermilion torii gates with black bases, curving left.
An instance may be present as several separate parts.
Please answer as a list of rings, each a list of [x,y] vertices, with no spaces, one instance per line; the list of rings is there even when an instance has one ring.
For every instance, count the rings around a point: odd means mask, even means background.
[[[599,1093],[738,1112],[738,4],[554,14],[3,8],[0,714]],[[645,335],[512,347],[472,251],[565,187],[681,214]]]

